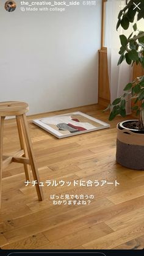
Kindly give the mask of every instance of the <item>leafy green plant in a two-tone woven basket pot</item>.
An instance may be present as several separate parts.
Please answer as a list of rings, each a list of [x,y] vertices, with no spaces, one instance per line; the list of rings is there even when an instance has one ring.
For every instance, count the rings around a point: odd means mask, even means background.
[[[140,9],[134,8],[138,4]],[[144,1],[131,0],[118,14],[117,29],[122,26],[126,30],[133,23],[134,30],[128,38],[120,35],[118,65],[126,61],[128,65],[136,64],[144,68],[144,31],[139,31],[137,23],[134,23],[135,16],[137,21],[144,18]],[[126,102],[129,100],[132,101],[132,111],[135,112],[137,120],[118,123],[116,159],[122,166],[144,170],[144,76],[126,84],[123,95],[109,104],[109,120],[117,115],[125,117]]]

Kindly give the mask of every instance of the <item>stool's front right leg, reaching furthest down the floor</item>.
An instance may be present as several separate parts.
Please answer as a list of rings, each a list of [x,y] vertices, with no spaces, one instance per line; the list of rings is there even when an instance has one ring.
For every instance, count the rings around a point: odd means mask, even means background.
[[[32,144],[31,144],[31,137],[29,136],[29,127],[26,119],[26,114],[19,115],[20,120],[21,120],[21,125],[23,126],[23,133],[24,133],[24,139],[26,141],[26,147],[27,147],[27,152],[29,155],[29,160],[31,163],[31,169],[32,169],[32,174],[34,177],[34,180],[37,180],[37,183],[39,184],[39,175],[38,175],[38,169],[35,164],[35,158],[34,158],[34,152],[32,150]],[[42,188],[36,184],[36,190],[37,190],[37,196],[38,200],[42,201],[43,200],[43,191]]]

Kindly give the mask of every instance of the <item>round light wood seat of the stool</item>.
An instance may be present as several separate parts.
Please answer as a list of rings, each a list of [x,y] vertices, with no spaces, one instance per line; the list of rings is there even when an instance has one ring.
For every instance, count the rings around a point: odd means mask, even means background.
[[[5,101],[0,103],[0,117],[23,115],[29,111],[29,105],[20,101]]]

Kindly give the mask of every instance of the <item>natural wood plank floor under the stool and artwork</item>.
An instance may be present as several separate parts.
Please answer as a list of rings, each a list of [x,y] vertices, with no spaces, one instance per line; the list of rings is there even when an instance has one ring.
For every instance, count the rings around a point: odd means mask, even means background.
[[[98,105],[74,108],[105,122]],[[35,116],[62,114],[59,111]],[[29,120],[32,117],[29,117]],[[128,117],[129,119],[129,117]],[[2,249],[142,249],[144,247],[144,172],[115,162],[116,124],[111,128],[57,139],[29,122],[40,180],[117,180],[120,185],[44,187],[24,185],[24,170],[3,171],[0,246]],[[15,120],[4,125],[4,152],[19,149]],[[93,194],[89,205],[52,205],[51,194]]]

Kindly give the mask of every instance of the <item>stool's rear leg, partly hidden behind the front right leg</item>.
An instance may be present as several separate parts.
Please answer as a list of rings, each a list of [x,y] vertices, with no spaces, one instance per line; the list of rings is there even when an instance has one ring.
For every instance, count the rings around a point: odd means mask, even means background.
[[[18,115],[16,116],[16,123],[18,126],[18,135],[19,135],[19,139],[20,139],[20,146],[21,146],[21,149],[24,150],[24,157],[27,157],[28,153],[27,153],[27,148],[26,148],[26,142],[24,141],[23,128],[21,126],[21,120]],[[26,180],[31,181],[31,172],[30,172],[30,168],[27,164],[24,164],[24,172],[26,175]]]

